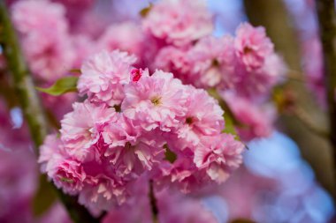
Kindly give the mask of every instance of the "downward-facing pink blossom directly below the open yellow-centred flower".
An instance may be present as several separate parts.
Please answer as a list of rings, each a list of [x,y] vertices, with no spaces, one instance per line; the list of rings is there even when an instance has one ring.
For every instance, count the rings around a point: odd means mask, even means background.
[[[109,123],[103,129],[104,142],[109,145],[104,155],[116,168],[117,175],[141,175],[163,159],[164,141],[159,139],[159,134],[156,138],[144,135],[124,115],[119,115],[116,123]]]

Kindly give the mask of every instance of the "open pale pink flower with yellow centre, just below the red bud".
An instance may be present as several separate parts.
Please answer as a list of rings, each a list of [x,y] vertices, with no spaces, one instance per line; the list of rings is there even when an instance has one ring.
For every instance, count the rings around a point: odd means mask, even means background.
[[[121,110],[143,130],[170,131],[185,114],[186,87],[172,73],[156,71],[125,86]]]

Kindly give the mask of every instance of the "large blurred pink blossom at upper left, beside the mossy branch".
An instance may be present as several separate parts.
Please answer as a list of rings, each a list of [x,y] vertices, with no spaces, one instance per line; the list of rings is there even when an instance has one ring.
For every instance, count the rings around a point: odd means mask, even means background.
[[[12,18],[34,75],[53,82],[71,70],[75,54],[61,4],[19,1],[13,5]]]

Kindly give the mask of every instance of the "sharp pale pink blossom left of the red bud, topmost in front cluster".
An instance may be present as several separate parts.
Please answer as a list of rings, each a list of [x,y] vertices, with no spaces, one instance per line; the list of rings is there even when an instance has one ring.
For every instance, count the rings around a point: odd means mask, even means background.
[[[110,106],[120,104],[125,96],[123,85],[129,82],[135,61],[135,56],[118,50],[91,56],[81,67],[80,94],[88,94],[90,100],[103,101]]]

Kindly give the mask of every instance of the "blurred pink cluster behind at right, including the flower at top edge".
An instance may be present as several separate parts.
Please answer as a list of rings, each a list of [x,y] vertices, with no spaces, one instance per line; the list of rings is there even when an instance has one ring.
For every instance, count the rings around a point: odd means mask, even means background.
[[[159,1],[149,7],[140,26],[113,26],[123,36],[137,33],[132,41],[109,34],[103,42],[141,57],[140,64],[149,71],[161,69],[184,84],[216,89],[243,126],[238,128],[243,140],[267,137],[275,117],[268,101],[286,65],[263,27],[243,23],[234,36],[215,37],[212,20],[203,1]],[[235,100],[240,102],[231,103]],[[241,104],[250,109],[239,112]]]

